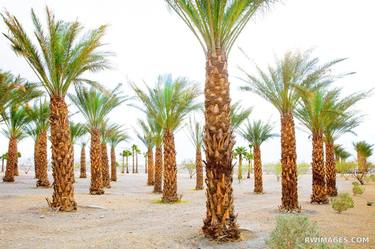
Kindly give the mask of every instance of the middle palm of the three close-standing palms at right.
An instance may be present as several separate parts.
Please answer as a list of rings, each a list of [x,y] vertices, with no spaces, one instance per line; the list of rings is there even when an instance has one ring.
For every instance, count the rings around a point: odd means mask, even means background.
[[[324,89],[301,93],[302,101],[296,109],[296,117],[312,136],[312,195],[311,202],[328,203],[324,167],[323,133],[342,112],[337,108],[339,90]]]

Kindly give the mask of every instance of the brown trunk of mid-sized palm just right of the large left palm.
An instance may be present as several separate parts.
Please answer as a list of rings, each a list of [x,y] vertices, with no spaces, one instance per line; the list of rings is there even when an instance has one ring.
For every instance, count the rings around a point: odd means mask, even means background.
[[[91,146],[90,146],[90,165],[91,165],[91,185],[90,194],[102,195],[103,176],[102,176],[102,150],[100,143],[99,129],[91,129]]]

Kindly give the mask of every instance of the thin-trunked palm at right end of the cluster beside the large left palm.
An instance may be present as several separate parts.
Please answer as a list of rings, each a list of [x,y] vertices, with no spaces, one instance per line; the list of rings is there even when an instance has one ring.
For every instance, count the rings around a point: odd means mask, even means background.
[[[122,130],[120,125],[112,125],[108,129],[108,141],[111,145],[111,181],[117,181],[116,147],[119,143],[128,139],[129,136]]]

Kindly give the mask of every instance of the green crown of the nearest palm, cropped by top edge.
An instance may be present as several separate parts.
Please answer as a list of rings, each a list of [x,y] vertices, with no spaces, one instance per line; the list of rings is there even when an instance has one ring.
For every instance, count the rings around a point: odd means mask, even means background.
[[[229,53],[248,21],[275,0],[166,0],[197,37],[204,52]]]

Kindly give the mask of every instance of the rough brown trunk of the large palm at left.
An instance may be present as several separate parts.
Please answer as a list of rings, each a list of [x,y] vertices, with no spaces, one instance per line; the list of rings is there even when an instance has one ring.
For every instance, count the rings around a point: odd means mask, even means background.
[[[73,158],[68,107],[63,97],[52,97],[50,103],[53,195],[50,206],[60,211],[77,209],[74,200]]]

